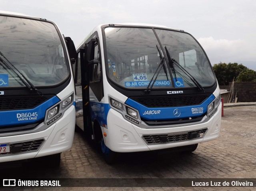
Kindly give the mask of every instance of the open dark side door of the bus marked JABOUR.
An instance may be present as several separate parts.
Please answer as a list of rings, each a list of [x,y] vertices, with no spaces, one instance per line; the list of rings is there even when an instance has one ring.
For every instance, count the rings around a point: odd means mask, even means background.
[[[101,80],[101,65],[96,39],[90,40],[84,49],[80,50],[81,56],[81,89],[82,89],[82,110],[83,129],[86,137],[95,138],[95,130],[92,128],[91,109],[101,109],[100,101],[103,97],[103,83]],[[95,99],[90,102],[90,91],[95,95]],[[93,105],[92,105],[93,104]],[[95,126],[95,125],[94,125]],[[98,134],[97,129],[97,134]],[[96,140],[97,141],[97,140]]]

